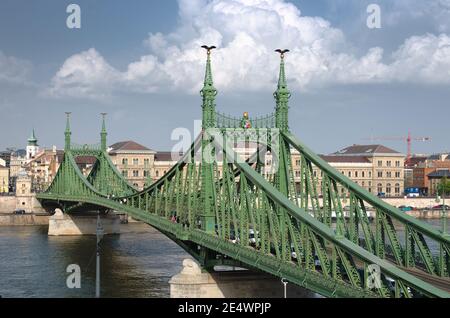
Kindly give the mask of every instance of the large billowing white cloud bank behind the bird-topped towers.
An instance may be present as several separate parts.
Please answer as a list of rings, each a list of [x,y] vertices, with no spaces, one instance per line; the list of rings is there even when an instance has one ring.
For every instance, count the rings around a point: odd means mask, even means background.
[[[341,30],[320,17],[302,16],[284,0],[179,0],[179,16],[174,32],[149,35],[144,44],[151,54],[127,70],[113,68],[90,49],[66,60],[49,91],[92,98],[122,90],[197,93],[203,44],[220,48],[213,56],[214,79],[225,92],[273,89],[278,74],[273,51],[279,47],[291,49],[286,63],[293,90],[396,81],[450,83],[446,34],[411,37],[391,55],[375,47],[355,56]]]

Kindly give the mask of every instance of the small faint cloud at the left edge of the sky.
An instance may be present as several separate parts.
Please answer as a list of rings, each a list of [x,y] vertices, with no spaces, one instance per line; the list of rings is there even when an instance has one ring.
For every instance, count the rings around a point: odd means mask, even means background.
[[[30,62],[6,56],[0,51],[0,81],[26,84],[32,65]]]

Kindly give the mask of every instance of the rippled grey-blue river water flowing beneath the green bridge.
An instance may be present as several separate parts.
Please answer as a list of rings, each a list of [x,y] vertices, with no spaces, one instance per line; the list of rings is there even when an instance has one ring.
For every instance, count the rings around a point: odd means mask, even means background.
[[[425,222],[440,227],[439,220]],[[94,297],[96,238],[49,237],[47,229],[0,227],[0,296]],[[169,297],[169,279],[190,256],[146,224],[123,225],[122,231],[101,243],[102,297]],[[430,245],[437,253],[437,246]],[[71,264],[81,268],[80,289],[66,286]]]

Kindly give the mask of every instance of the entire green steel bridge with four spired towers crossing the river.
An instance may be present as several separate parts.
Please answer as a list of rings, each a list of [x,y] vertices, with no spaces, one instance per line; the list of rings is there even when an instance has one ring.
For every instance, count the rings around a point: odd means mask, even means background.
[[[450,297],[449,236],[361,188],[290,132],[286,51],[278,50],[275,113],[236,118],[216,111],[211,48],[206,49],[202,133],[171,170],[144,190],[135,189],[108,156],[105,119],[101,143],[79,146],[71,142],[68,115],[64,160],[52,184],[37,195],[42,205],[65,213],[126,212],[206,269],[243,266],[326,297]],[[237,154],[239,141],[257,145],[250,158]],[[294,181],[293,149],[300,153],[300,182]],[[75,162],[79,156],[97,158],[87,176]],[[321,182],[313,168],[323,175]],[[349,210],[342,206],[342,192]],[[368,206],[376,211],[373,220]]]

